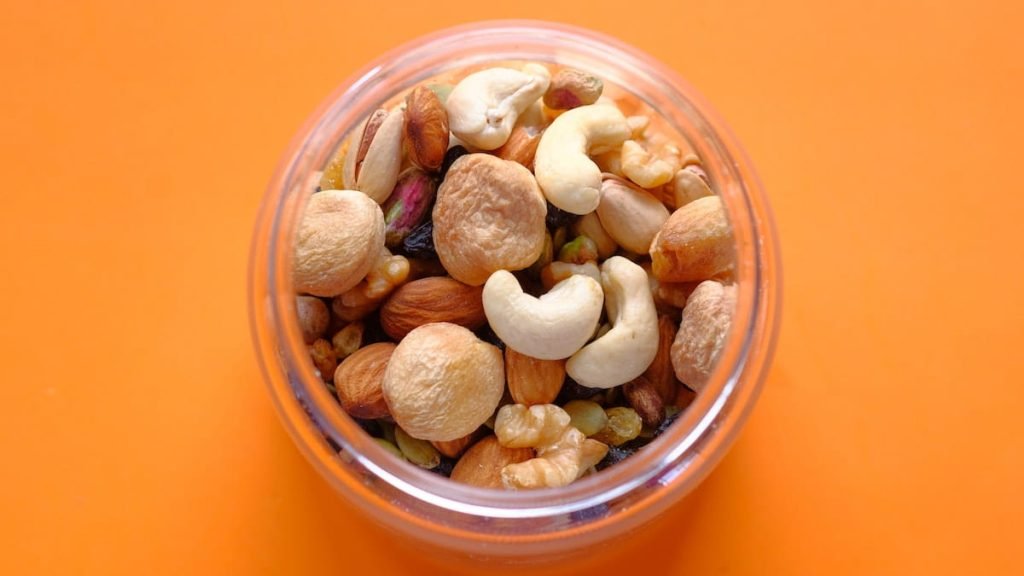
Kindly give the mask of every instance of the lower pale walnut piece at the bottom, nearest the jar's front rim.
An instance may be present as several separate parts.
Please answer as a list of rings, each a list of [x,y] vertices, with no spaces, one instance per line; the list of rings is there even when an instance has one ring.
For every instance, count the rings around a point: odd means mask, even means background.
[[[537,458],[502,468],[502,483],[511,489],[568,486],[586,470],[583,444],[587,437],[568,426],[557,442],[538,449]]]

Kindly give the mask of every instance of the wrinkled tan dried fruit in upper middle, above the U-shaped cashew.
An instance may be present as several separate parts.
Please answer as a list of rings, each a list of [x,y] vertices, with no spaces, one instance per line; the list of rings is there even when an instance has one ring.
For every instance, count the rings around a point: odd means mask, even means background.
[[[547,202],[534,175],[489,154],[456,160],[437,191],[434,249],[456,280],[479,286],[522,270],[544,250]]]

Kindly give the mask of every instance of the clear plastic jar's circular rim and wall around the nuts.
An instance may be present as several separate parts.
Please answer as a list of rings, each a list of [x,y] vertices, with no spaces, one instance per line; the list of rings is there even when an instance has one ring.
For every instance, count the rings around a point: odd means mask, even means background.
[[[313,173],[380,102],[445,71],[493,60],[580,68],[646,101],[700,156],[736,240],[737,310],[703,392],[647,448],[559,489],[478,489],[386,455],[315,376],[295,318],[292,238]],[[339,492],[413,540],[474,558],[530,562],[621,537],[708,476],[746,419],[767,373],[778,331],[780,280],[770,210],[754,169],[693,88],[612,38],[563,25],[494,22],[445,30],[384,54],[342,84],[299,130],[256,223],[250,305],[257,353],[282,420]]]

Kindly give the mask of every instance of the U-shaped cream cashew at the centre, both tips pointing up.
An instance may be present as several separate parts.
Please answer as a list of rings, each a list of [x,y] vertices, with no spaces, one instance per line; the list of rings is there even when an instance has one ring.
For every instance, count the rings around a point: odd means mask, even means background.
[[[524,293],[504,270],[483,285],[483,313],[495,334],[516,352],[541,360],[568,358],[587,343],[603,299],[601,285],[583,275],[559,282],[540,298]]]

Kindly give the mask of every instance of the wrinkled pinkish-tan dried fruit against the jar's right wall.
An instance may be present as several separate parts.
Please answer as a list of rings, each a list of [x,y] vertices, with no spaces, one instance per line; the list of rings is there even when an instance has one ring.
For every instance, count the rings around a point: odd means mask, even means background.
[[[736,307],[736,287],[714,280],[701,282],[690,294],[679,333],[672,344],[672,366],[676,377],[700,392],[715,369],[718,356],[729,335]]]

